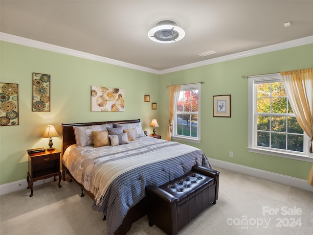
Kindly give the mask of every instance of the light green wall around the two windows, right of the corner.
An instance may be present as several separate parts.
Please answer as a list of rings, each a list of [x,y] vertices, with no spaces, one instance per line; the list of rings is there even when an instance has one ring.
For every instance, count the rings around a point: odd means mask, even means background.
[[[264,53],[161,75],[160,126],[167,125],[166,86],[204,82],[201,85],[201,143],[208,158],[241,164],[300,179],[307,179],[312,163],[248,152],[248,80],[257,75],[313,67],[313,44]],[[231,118],[213,118],[213,95],[231,95]],[[166,135],[166,129],[160,133]],[[229,151],[233,157],[229,157]]]

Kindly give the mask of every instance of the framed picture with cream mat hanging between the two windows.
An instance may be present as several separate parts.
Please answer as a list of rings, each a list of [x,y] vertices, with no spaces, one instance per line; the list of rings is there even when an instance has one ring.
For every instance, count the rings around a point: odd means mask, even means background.
[[[230,118],[230,94],[213,95],[213,117]]]

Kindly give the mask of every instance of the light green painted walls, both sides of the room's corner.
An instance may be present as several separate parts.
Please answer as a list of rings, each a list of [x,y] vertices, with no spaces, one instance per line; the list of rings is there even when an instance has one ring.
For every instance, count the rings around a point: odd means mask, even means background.
[[[0,127],[0,184],[26,178],[26,149],[45,147],[45,126],[54,124],[53,138],[61,150],[62,123],[142,120],[143,129],[157,118],[163,139],[168,123],[166,86],[201,82],[201,148],[209,158],[307,179],[312,163],[247,151],[248,81],[243,75],[313,67],[313,44],[156,75],[102,62],[0,41],[0,82],[19,84],[19,125]],[[32,112],[32,73],[51,75],[51,112]],[[125,89],[125,112],[91,112],[90,86]],[[144,94],[157,102],[144,102]],[[231,118],[213,118],[212,96],[231,94]],[[230,158],[229,151],[234,157]]]

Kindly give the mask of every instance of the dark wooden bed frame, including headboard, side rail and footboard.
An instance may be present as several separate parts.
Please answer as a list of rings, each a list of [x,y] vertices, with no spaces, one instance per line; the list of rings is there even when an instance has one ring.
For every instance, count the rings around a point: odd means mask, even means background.
[[[109,123],[136,123],[140,122],[140,119],[133,120],[121,120],[121,121],[100,121],[100,122],[85,122],[85,123],[74,123],[74,124],[63,124],[62,123],[62,156],[65,150],[72,144],[76,143],[75,134],[73,126],[91,126],[91,125],[101,125],[101,124],[109,124]],[[81,188],[82,188],[82,196],[83,190],[94,200],[95,196],[88,190],[84,188],[82,184],[79,184],[69,173],[67,167],[62,164],[63,169],[63,180],[65,180],[65,174],[67,173],[71,179],[73,179]],[[119,226],[119,228],[114,232],[114,235],[125,235],[131,228],[132,223],[142,218],[147,214],[146,208],[146,200],[143,198],[138,204],[136,204],[133,208],[131,208],[126,217],[123,220],[123,223]]]

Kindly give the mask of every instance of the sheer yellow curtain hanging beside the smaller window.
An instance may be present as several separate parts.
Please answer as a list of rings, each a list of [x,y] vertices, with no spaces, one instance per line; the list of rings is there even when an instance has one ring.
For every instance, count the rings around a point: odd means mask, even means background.
[[[167,126],[166,140],[171,141],[172,124],[177,109],[177,102],[179,99],[180,85],[169,87],[169,121]]]

